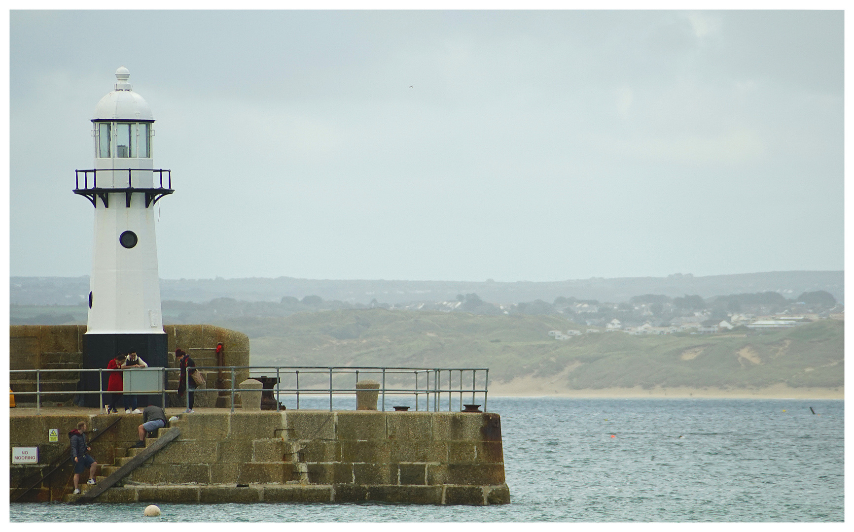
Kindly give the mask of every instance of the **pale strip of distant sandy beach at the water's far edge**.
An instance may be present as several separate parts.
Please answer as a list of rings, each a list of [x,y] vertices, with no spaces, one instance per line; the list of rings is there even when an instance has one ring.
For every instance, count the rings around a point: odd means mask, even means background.
[[[600,388],[598,390],[571,390],[557,387],[549,383],[548,379],[513,379],[509,383],[489,383],[489,396],[494,397],[697,397],[697,398],[722,398],[733,399],[845,399],[845,387],[834,388],[792,388],[787,385],[774,385],[765,388],[735,388],[728,387],[722,390],[717,387],[691,388],[677,386],[673,388],[662,388],[656,386],[650,390],[644,390],[640,386],[633,388]]]

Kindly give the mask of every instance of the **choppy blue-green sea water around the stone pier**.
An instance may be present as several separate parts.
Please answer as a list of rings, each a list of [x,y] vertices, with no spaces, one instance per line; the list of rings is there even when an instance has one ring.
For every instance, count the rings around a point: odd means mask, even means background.
[[[490,397],[511,504],[158,503],[151,521],[842,521],[844,402]],[[815,410],[815,414],[810,411]],[[140,521],[149,503],[19,503],[20,521]]]

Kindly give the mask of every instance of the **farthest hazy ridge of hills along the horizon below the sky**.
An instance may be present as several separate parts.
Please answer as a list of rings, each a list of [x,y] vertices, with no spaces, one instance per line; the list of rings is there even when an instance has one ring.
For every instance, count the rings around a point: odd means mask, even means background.
[[[457,294],[477,293],[484,301],[515,304],[559,297],[597,299],[613,303],[628,301],[641,294],[678,297],[698,294],[703,298],[735,293],[778,292],[787,298],[801,292],[824,290],[843,301],[842,271],[787,271],[737,275],[674,274],[667,277],[591,278],[549,282],[496,282],[444,280],[312,280],[278,277],[276,279],[198,279],[161,280],[161,298],[205,303],[215,298],[244,301],[276,301],[284,296],[304,298],[316,295],[325,300],[351,304],[401,304],[412,301],[453,301]],[[78,304],[89,293],[89,277],[11,277],[11,304]]]

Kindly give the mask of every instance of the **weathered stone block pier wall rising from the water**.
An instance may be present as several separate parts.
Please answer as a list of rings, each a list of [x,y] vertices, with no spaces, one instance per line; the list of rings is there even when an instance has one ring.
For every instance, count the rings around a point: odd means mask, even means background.
[[[91,431],[115,418],[75,410],[50,408],[37,416],[13,409],[10,444],[38,446],[42,462],[12,466],[13,497],[19,485],[38,479],[45,461],[59,458],[79,420]],[[167,409],[173,413],[178,409]],[[92,445],[103,476],[138,452],[130,447],[142,416],[121,418]],[[181,436],[96,501],[510,502],[497,413],[200,408],[179,418],[170,427]],[[57,443],[48,442],[51,428],[60,431]],[[67,476],[49,478],[23,500],[70,500],[66,482]]]

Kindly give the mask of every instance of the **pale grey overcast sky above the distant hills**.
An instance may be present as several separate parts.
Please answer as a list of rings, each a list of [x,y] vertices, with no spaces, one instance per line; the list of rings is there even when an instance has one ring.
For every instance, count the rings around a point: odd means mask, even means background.
[[[11,275],[90,273],[120,66],[163,278],[843,269],[841,11],[15,11]]]

